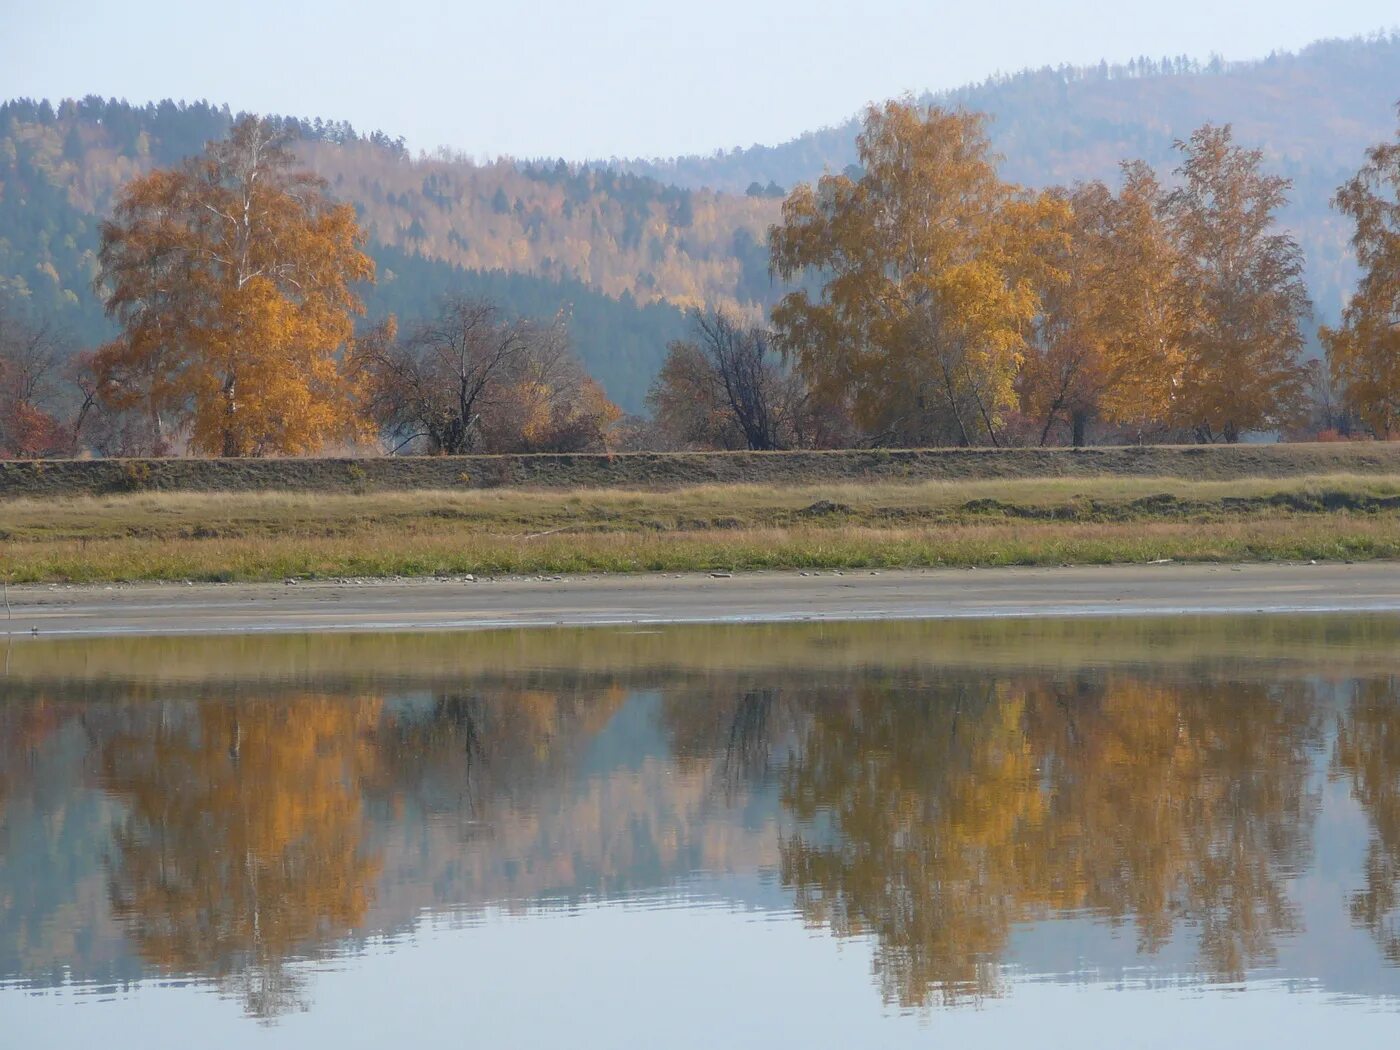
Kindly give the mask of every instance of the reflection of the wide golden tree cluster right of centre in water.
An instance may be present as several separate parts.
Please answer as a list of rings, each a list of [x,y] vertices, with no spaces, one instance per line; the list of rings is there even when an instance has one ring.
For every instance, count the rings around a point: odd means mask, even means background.
[[[1183,925],[1239,980],[1296,917],[1319,727],[1303,686],[867,679],[818,703],[783,788],[784,881],[869,934],[902,1007],[995,994],[1016,923],[1088,910],[1142,951]]]

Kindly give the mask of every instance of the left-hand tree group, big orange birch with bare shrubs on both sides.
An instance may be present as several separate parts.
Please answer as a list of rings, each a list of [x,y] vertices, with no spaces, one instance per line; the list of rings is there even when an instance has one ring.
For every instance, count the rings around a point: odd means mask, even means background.
[[[357,332],[364,232],[288,139],[246,118],[123,189],[97,277],[116,339],[63,365],[46,328],[0,314],[7,454],[602,448],[620,412],[560,322],[456,297],[402,337],[392,316]],[[60,421],[63,385],[77,409]]]

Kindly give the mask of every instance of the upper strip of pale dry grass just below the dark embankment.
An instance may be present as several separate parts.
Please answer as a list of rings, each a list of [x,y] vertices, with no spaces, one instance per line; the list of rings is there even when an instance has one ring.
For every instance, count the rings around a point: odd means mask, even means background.
[[[601,529],[657,529],[791,524],[826,500],[841,510],[823,515],[840,524],[885,522],[892,517],[986,517],[967,504],[998,501],[1025,508],[1078,508],[1121,504],[1154,496],[1183,503],[1221,504],[1229,498],[1324,497],[1329,493],[1385,498],[1400,496],[1400,477],[1327,475],[1292,480],[1245,479],[1183,482],[1175,477],[1047,477],[1028,480],[840,483],[820,486],[706,484],[671,491],[626,489],[398,493],[143,493],[11,500],[0,504],[0,538],[99,538],[214,529],[220,535],[337,532],[356,526],[433,526],[441,521],[493,531],[570,525]],[[1217,507],[1214,510],[1224,510]],[[1159,511],[1156,511],[1159,512]]]

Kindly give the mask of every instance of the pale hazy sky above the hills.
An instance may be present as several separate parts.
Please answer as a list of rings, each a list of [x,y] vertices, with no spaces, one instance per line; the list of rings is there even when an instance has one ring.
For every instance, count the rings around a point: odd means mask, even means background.
[[[669,155],[1026,66],[1254,57],[1396,22],[1394,0],[0,0],[0,97],[209,98],[473,155]]]

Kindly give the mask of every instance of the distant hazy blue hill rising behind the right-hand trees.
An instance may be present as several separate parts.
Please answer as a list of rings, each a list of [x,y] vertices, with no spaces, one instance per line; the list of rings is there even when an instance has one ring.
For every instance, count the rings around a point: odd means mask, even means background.
[[[993,116],[1004,174],[1023,185],[1112,179],[1123,158],[1168,172],[1172,143],[1203,123],[1232,123],[1242,146],[1294,181],[1285,216],[1308,253],[1319,314],[1336,316],[1350,290],[1350,231],[1329,207],[1368,146],[1389,139],[1400,101],[1400,35],[1323,41],[1259,62],[1138,59],[1127,64],[1042,69],[927,95]],[[855,160],[857,118],[781,146],[708,157],[612,161],[680,186],[763,193],[841,171]]]

